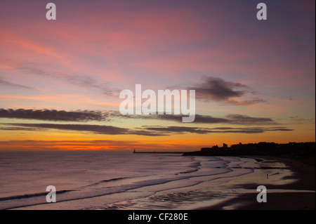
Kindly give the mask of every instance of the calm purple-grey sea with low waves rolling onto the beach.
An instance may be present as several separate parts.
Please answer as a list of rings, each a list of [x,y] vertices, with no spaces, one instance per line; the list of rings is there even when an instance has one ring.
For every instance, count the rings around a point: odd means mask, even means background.
[[[0,209],[199,209],[235,197],[256,166],[241,157],[0,152]],[[257,172],[265,180],[270,171]],[[49,203],[51,185],[56,202]]]

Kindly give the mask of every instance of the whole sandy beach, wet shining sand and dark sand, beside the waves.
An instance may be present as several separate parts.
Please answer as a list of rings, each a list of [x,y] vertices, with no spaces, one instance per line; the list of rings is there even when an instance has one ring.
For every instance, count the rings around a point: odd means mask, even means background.
[[[180,205],[180,209],[184,210],[285,210],[285,209],[315,209],[315,160],[291,158],[291,157],[266,157],[266,156],[242,156],[235,157],[245,161],[241,166],[232,162],[230,169],[233,172],[246,171],[240,176],[226,176],[215,180],[206,180],[197,185],[189,187],[178,187],[173,189],[166,189],[158,191],[157,195],[150,198],[145,197],[129,197],[129,199],[121,202],[110,202],[109,204],[122,205],[117,209],[124,209],[124,203],[129,208],[129,204],[138,204],[140,202],[142,209],[152,210],[152,202],[166,202],[166,199],[180,197],[179,200],[195,202],[194,204]],[[232,161],[234,161],[233,159]],[[237,159],[238,160],[238,159]],[[249,161],[248,161],[249,160]],[[314,166],[312,166],[314,164]],[[220,166],[216,167],[220,168]],[[239,170],[242,169],[242,170]],[[251,173],[248,171],[254,170]],[[242,172],[244,172],[242,171]],[[267,176],[267,174],[269,176]],[[225,175],[224,175],[225,176]],[[256,201],[256,188],[258,185],[265,185],[268,190],[268,202],[258,203]],[[146,187],[145,187],[146,188]],[[144,189],[145,189],[144,188]],[[152,187],[147,187],[147,190],[152,190]],[[197,190],[197,191],[195,191]],[[141,190],[131,190],[126,193],[129,194],[142,192]],[[182,195],[182,196],[181,196]],[[116,194],[104,195],[92,199],[80,200],[77,209],[109,209],[114,208],[104,202],[107,199],[114,199]],[[153,200],[154,199],[154,200]],[[158,201],[157,201],[158,199]],[[159,201],[160,199],[160,201]],[[124,203],[123,203],[124,202]],[[178,202],[175,202],[178,203]],[[77,204],[75,204],[77,206]],[[156,204],[156,208],[162,204]],[[29,209],[70,209],[74,208],[72,201],[60,202],[58,204],[42,204],[35,206],[27,206],[23,208],[16,208],[18,210]],[[163,204],[164,208],[168,208]],[[162,208],[162,207],[160,207]],[[138,207],[133,207],[138,209]],[[169,209],[174,209],[169,207]]]

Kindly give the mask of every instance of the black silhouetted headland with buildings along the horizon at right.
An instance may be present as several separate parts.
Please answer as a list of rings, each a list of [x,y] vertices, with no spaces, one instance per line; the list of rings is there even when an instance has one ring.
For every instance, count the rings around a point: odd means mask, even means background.
[[[184,156],[282,156],[315,157],[315,142],[308,143],[249,143],[223,147],[202,147],[200,151],[184,152]]]

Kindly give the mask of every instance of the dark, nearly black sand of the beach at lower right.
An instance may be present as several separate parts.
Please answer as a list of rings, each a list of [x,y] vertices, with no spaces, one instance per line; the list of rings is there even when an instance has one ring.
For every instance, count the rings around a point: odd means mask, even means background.
[[[289,180],[294,181],[284,185],[265,185],[267,187],[266,203],[256,202],[259,192],[251,192],[195,210],[315,210],[315,157],[242,157],[256,159],[256,161],[263,163],[268,160],[280,162],[292,172]],[[242,187],[251,190],[256,189],[257,185],[245,184]]]

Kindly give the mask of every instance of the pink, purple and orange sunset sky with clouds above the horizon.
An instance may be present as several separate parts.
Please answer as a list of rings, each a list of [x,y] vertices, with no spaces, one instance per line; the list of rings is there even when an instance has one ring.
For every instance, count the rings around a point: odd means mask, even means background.
[[[0,150],[315,141],[315,1],[48,2],[0,2]],[[195,121],[122,115],[136,84],[195,90]]]

